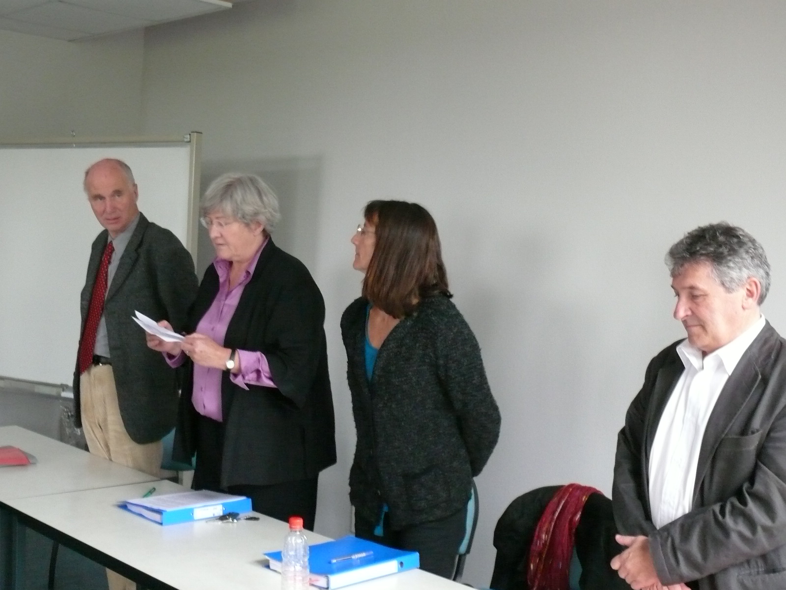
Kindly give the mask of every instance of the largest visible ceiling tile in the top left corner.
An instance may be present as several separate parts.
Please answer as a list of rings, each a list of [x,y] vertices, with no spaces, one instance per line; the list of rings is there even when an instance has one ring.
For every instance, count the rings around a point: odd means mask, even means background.
[[[53,2],[35,8],[13,13],[13,20],[21,20],[46,27],[66,28],[83,31],[91,35],[101,35],[112,31],[130,28],[143,28],[153,24],[152,20],[122,17],[117,14],[102,13],[98,10],[73,6],[64,2]]]

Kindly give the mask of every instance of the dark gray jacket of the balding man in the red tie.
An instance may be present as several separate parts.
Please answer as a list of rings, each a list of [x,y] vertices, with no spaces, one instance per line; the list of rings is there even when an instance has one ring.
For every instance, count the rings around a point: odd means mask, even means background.
[[[160,352],[147,347],[145,332],[131,316],[139,311],[156,321],[166,319],[174,330],[182,330],[196,295],[196,274],[193,259],[178,238],[139,215],[107,291],[104,317],[123,425],[134,442],[145,444],[160,440],[174,427],[178,390],[175,372]],[[80,301],[80,337],[107,239],[104,230],[90,250]],[[76,425],[82,426],[78,367],[74,371],[74,407]]]

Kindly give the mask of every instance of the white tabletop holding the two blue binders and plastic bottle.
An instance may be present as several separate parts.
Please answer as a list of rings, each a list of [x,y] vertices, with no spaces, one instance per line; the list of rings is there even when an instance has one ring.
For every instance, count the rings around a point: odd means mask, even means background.
[[[156,494],[185,491],[171,481],[157,481]],[[9,502],[25,524],[58,537],[90,559],[152,589],[278,590],[281,576],[264,567],[263,553],[277,551],[288,531],[285,522],[186,522],[162,526],[116,507],[138,498],[150,484],[84,490]],[[307,532],[310,543],[329,540]],[[460,584],[421,570],[363,584],[356,590],[457,590]]]

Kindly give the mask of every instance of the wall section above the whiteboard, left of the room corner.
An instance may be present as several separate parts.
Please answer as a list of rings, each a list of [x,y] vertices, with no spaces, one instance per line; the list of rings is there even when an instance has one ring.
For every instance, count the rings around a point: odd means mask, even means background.
[[[143,42],[142,31],[85,42],[0,31],[0,141],[137,135]]]

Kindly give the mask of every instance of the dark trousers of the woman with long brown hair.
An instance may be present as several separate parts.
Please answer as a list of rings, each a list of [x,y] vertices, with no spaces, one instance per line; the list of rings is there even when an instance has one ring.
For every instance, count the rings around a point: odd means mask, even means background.
[[[374,534],[376,522],[364,518],[355,518],[354,535],[368,539],[374,543],[387,545],[396,549],[417,551],[421,556],[421,570],[435,573],[448,579],[453,577],[456,569],[456,556],[467,526],[467,507],[455,514],[435,522],[424,522],[421,525],[408,526],[402,530],[391,530],[384,516],[382,537]]]

